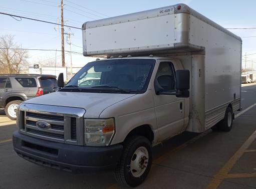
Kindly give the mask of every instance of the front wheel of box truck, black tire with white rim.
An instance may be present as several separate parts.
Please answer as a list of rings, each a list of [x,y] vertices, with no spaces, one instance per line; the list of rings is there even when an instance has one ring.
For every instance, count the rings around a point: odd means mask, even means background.
[[[124,152],[115,169],[120,185],[136,187],[147,177],[152,165],[152,145],[146,137],[131,136],[124,142]]]

